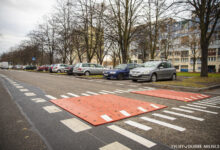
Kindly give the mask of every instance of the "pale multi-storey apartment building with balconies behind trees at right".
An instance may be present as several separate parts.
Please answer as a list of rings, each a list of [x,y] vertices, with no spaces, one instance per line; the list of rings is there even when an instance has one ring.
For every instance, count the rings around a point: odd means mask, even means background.
[[[171,29],[171,30],[168,30]],[[171,36],[169,36],[171,35]],[[140,35],[142,37],[143,35]],[[191,21],[174,22],[167,25],[166,30],[160,30],[159,41],[155,53],[155,59],[168,59],[176,67],[177,71],[192,72],[201,71],[201,50],[199,44],[199,28]],[[140,41],[140,39],[138,39]],[[165,50],[161,41],[169,41]],[[131,43],[131,62],[142,63],[142,51],[137,41]],[[148,52],[149,60],[149,52]],[[193,65],[195,62],[195,65]],[[208,71],[220,72],[220,22],[218,22],[208,49]]]

